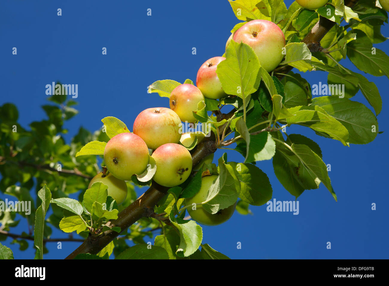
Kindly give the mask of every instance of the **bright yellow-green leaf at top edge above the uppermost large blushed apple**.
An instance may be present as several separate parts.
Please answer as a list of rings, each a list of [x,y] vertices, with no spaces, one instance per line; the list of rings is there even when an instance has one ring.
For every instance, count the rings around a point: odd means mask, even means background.
[[[268,3],[264,4],[264,2],[259,2],[258,0],[235,0],[229,1],[231,8],[235,14],[235,16],[242,21],[249,21],[254,19],[264,19],[271,20],[270,6],[266,7],[265,5],[269,5]],[[267,1],[266,1],[267,2]]]

